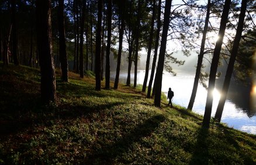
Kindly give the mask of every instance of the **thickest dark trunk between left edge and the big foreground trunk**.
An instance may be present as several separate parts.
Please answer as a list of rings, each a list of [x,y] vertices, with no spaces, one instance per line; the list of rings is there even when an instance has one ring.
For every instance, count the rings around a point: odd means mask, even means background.
[[[15,65],[19,65],[19,61],[17,58],[17,27],[16,27],[16,2],[15,0],[11,0],[12,5],[12,56],[13,56],[13,63]]]

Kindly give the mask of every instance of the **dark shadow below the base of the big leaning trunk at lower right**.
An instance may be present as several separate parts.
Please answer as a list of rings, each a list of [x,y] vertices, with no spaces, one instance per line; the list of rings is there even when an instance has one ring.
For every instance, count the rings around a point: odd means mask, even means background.
[[[198,130],[194,152],[189,164],[209,164],[209,144],[207,142],[208,136],[209,130],[207,128],[201,127]]]

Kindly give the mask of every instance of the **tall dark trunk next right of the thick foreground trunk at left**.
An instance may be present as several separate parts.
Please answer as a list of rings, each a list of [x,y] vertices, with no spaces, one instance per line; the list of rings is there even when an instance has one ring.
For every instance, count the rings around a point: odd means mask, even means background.
[[[61,79],[68,82],[68,58],[65,40],[64,0],[58,0],[58,34],[60,35]]]

